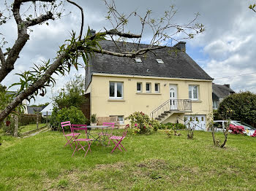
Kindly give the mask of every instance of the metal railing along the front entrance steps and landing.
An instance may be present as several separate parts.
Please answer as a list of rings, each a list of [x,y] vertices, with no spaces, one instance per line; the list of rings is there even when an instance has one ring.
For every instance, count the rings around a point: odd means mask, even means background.
[[[169,99],[154,109],[151,112],[151,117],[156,119],[168,112],[192,112],[192,102],[190,99]]]

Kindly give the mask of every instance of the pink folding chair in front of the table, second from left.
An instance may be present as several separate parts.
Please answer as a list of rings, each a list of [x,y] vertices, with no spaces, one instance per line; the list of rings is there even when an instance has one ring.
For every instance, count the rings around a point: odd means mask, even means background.
[[[75,127],[79,127],[79,128],[75,128]],[[75,142],[75,150],[72,154],[72,157],[74,155],[74,153],[77,151],[77,150],[80,150],[80,149],[83,149],[84,152],[86,152],[86,155],[87,155],[87,152],[90,150],[91,152],[91,141],[93,141],[94,139],[88,139],[88,135],[87,135],[87,128],[86,128],[86,125],[75,125],[75,124],[72,124],[71,125],[71,132],[75,135],[75,130],[84,130],[85,131],[85,136],[86,136],[86,139],[75,139],[75,136],[74,137],[74,142]],[[83,146],[80,142],[87,142],[87,145]],[[78,149],[78,146],[80,145],[80,148]],[[88,146],[88,149],[86,150],[85,147]],[[84,155],[84,157],[86,157],[86,155]]]

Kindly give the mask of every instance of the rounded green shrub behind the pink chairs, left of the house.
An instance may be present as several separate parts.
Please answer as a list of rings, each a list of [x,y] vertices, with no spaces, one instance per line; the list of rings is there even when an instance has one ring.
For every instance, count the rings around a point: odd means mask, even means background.
[[[52,115],[50,117],[50,128],[52,130],[62,130],[61,122],[70,121],[72,124],[88,124],[89,120],[86,119],[83,112],[71,106],[69,108],[57,109],[53,108]],[[69,126],[65,127],[64,130],[70,130]]]

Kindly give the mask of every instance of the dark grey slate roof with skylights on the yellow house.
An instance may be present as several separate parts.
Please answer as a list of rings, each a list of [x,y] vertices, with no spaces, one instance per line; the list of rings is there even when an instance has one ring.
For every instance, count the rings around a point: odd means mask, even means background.
[[[118,49],[112,41],[105,40],[100,42],[100,44],[102,49],[118,52]],[[137,46],[138,44],[127,43],[125,48],[130,51]],[[140,48],[143,47],[146,47],[146,44],[140,45]],[[154,50],[157,56],[151,52],[147,53],[146,58],[143,58],[141,55],[142,63],[136,63],[134,58],[121,58],[96,53],[95,56],[91,58],[90,72],[152,77],[212,79],[186,52],[173,52],[170,50],[173,50],[173,48],[165,47],[163,49]],[[161,58],[164,64],[157,63],[157,58]]]

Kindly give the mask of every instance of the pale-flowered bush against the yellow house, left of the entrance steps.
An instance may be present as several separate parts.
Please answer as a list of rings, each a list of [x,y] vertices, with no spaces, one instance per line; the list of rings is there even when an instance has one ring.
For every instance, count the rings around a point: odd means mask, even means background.
[[[153,130],[157,131],[160,126],[157,120],[151,120],[151,118],[143,112],[134,112],[125,119],[130,121],[129,128],[132,129],[132,133],[134,134],[151,134]]]

